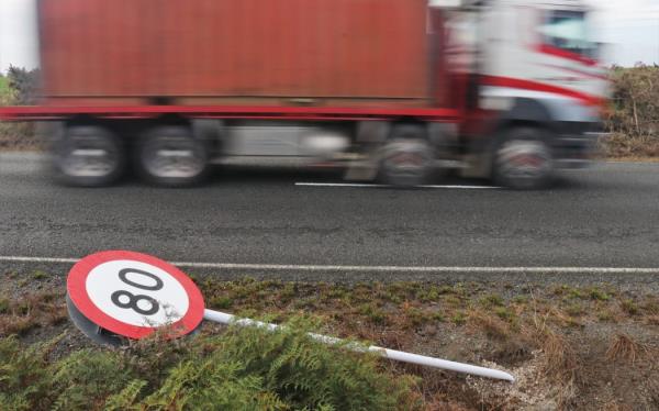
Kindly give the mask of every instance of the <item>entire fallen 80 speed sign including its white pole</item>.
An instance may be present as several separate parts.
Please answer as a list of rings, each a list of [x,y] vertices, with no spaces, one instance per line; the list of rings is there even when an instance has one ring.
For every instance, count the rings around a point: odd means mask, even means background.
[[[123,338],[147,337],[158,329],[166,329],[167,337],[180,337],[197,330],[202,320],[271,331],[280,327],[208,310],[201,291],[185,273],[159,258],[124,251],[101,252],[79,260],[67,278],[67,308],[80,331],[97,343],[110,345],[121,344]],[[330,345],[343,342],[326,335],[309,335]],[[515,380],[507,373],[469,364],[378,346],[348,347],[402,363]]]

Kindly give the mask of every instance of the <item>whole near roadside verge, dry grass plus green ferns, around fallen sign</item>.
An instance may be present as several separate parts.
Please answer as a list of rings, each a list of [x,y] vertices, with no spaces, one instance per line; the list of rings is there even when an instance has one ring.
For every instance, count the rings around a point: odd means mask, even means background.
[[[156,336],[108,349],[93,346],[67,321],[60,276],[0,277],[0,403],[10,409],[659,404],[659,298],[652,289],[194,277],[209,308],[266,315],[289,330],[265,334],[205,323],[197,335],[174,343]],[[466,378],[319,345],[306,338],[306,330],[505,369],[517,382]]]

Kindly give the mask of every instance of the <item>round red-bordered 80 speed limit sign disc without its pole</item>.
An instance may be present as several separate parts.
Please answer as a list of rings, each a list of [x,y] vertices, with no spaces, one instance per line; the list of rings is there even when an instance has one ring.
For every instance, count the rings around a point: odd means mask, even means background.
[[[67,279],[68,299],[85,320],[130,338],[169,326],[185,335],[199,326],[203,297],[178,268],[156,257],[123,251],[92,254]]]

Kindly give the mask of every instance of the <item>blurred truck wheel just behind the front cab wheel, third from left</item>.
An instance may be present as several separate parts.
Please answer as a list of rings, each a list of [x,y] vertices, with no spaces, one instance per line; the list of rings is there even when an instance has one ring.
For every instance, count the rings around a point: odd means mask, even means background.
[[[433,149],[423,126],[394,126],[380,158],[379,179],[388,185],[421,186],[433,171]]]

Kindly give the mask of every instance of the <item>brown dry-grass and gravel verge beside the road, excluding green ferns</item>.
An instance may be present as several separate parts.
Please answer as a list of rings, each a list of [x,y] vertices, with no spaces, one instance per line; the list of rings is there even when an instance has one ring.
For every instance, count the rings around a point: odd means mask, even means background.
[[[0,337],[62,335],[66,273],[0,273]],[[321,332],[507,370],[516,382],[383,362],[422,377],[428,410],[659,409],[659,295],[610,285],[301,284],[194,278],[206,307],[275,322],[311,313]],[[211,325],[204,325],[211,326]]]

